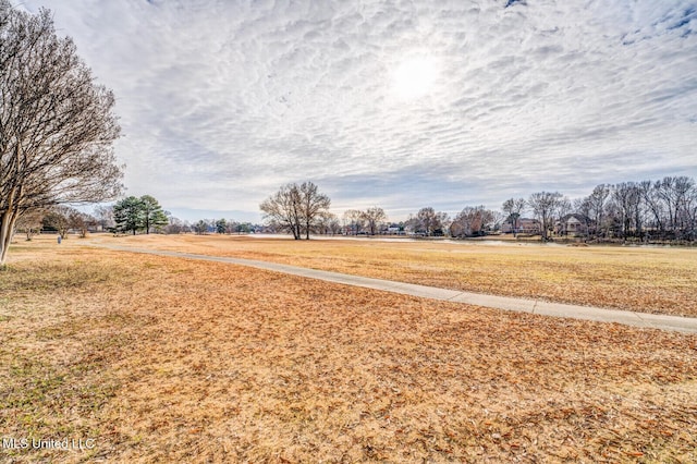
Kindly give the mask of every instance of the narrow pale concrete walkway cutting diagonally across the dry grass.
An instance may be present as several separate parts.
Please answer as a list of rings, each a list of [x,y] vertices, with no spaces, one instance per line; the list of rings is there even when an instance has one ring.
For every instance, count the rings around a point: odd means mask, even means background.
[[[318,279],[327,282],[342,283],[344,285],[363,286],[366,289],[381,290],[386,292],[418,296],[423,298],[432,298],[454,303],[466,303],[468,305],[486,306],[496,309],[531,313],[543,316],[570,317],[574,319],[595,320],[601,322],[619,322],[626,326],[672,330],[685,333],[697,333],[697,318],[663,316],[590,306],[567,305],[562,303],[551,303],[539,300],[516,298],[510,296],[486,295],[480,293],[462,292],[458,290],[439,289],[436,286],[417,285],[414,283],[402,283],[391,280],[372,279],[369,277],[351,276],[340,272],[308,269],[276,262],[258,261],[255,259],[227,258],[222,256],[207,256],[192,253],[168,252],[162,249],[133,248],[118,245],[93,244],[93,246],[99,246],[120,252],[144,253],[157,256],[171,256],[175,258],[227,262],[276,272],[283,272],[293,276],[301,276],[308,279]]]

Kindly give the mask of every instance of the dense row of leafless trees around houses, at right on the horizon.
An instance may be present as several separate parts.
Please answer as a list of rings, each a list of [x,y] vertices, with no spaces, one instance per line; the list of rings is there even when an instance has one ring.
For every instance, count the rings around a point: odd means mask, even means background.
[[[566,221],[573,217],[580,224],[574,234],[590,240],[693,241],[697,239],[697,184],[687,176],[600,184],[587,197],[576,199],[559,192],[537,192],[527,199],[505,200],[501,211],[467,206],[452,219],[423,208],[405,225],[425,235],[462,237],[498,231],[509,223],[516,234],[526,213],[535,218],[542,240],[567,234]]]

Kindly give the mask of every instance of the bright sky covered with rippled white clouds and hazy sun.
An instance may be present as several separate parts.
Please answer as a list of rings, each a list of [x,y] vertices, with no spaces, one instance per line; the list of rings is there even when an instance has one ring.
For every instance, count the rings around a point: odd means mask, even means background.
[[[260,221],[697,178],[697,0],[15,0],[117,97],[127,195]]]

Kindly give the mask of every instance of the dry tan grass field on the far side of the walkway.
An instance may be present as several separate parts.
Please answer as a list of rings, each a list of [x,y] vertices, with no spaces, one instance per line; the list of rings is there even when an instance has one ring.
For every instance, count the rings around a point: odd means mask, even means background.
[[[240,236],[135,236],[142,247],[290,264],[408,283],[697,316],[697,249]]]

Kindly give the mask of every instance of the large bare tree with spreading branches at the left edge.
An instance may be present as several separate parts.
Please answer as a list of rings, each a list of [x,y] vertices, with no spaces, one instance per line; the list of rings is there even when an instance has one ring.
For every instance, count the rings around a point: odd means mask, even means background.
[[[48,10],[0,0],[0,264],[25,211],[118,195],[113,105]]]

